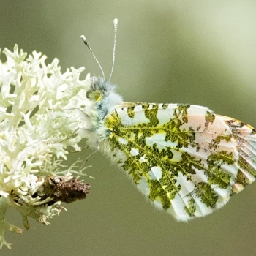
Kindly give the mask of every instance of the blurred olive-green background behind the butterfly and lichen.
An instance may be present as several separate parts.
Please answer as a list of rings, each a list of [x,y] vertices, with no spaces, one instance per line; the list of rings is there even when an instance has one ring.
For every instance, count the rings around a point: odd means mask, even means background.
[[[86,34],[105,73],[126,101],[191,103],[256,127],[256,1],[0,1],[0,47],[41,51],[61,68],[99,67],[80,40]],[[86,74],[85,72],[85,74]],[[83,75],[84,77],[85,75]],[[89,151],[70,156],[88,156]],[[50,226],[9,233],[1,255],[255,255],[256,184],[222,210],[177,223],[156,210],[118,167],[91,157],[86,200],[67,206]],[[21,226],[10,211],[9,219]]]

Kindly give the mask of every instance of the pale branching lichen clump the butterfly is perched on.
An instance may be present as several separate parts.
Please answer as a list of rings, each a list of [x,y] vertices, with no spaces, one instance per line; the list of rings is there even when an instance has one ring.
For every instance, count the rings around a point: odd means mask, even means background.
[[[58,59],[45,64],[42,53],[27,57],[18,45],[3,53],[7,61],[0,60],[0,248],[10,248],[5,231],[22,230],[5,220],[8,208],[20,212],[26,229],[27,217],[48,224],[63,208],[53,190],[60,181],[58,189],[72,187],[75,166],[63,170],[60,159],[67,159],[68,147],[80,150],[83,138],[78,129],[86,127],[83,102],[90,80],[89,75],[79,80],[83,67],[62,74]]]

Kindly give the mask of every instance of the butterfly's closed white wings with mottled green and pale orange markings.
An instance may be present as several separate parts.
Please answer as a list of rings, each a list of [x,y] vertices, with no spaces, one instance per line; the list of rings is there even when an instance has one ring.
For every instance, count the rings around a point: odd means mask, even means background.
[[[255,180],[255,129],[208,108],[124,105],[105,127],[114,161],[178,221],[210,214]]]

